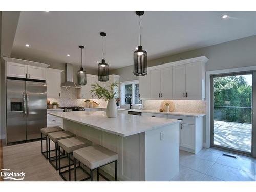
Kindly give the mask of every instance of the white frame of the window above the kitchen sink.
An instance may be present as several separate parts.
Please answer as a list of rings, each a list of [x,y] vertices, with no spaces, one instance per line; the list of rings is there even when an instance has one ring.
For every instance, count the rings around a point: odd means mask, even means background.
[[[142,104],[135,104],[135,84],[139,84],[139,80],[133,80],[133,81],[125,81],[120,83],[121,86],[121,105],[122,106],[130,106],[130,104],[125,103],[125,86],[128,84],[132,84],[132,105],[141,106]],[[139,86],[140,89],[140,86]]]

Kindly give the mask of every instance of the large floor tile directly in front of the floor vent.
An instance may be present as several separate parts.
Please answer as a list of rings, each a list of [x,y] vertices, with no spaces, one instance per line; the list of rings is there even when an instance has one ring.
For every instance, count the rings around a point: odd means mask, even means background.
[[[254,174],[254,163],[251,161],[246,161],[241,158],[232,158],[221,155],[216,163],[226,165],[232,168],[237,168],[240,170],[244,170],[245,172],[250,172]]]

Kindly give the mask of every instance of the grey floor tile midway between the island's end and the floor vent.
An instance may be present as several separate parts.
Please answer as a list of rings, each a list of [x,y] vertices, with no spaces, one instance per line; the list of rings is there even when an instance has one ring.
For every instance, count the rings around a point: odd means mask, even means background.
[[[206,174],[213,164],[214,162],[196,158],[195,156],[188,157],[180,162],[180,165],[196,170],[203,174]]]

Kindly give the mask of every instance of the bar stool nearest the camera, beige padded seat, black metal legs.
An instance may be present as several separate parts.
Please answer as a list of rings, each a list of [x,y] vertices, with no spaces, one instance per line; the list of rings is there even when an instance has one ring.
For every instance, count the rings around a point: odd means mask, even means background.
[[[99,175],[105,180],[110,181],[103,174],[99,173],[99,168],[110,163],[115,162],[115,181],[117,181],[117,157],[118,154],[105,148],[101,145],[93,145],[79,150],[73,151],[74,164],[76,161],[81,162],[84,166],[90,169],[90,178],[93,181],[93,171],[97,169],[97,181],[99,181]],[[76,181],[76,166],[74,166],[75,181]]]

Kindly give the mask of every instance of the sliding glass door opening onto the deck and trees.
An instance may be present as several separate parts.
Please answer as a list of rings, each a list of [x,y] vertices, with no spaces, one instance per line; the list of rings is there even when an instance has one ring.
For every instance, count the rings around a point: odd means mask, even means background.
[[[211,76],[211,146],[251,154],[252,73]]]

